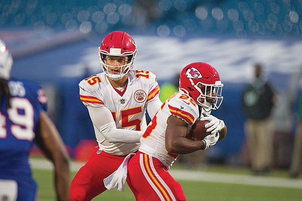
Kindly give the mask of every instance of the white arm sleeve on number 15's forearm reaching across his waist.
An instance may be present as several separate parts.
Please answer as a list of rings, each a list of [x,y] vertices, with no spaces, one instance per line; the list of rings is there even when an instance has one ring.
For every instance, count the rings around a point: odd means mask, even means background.
[[[87,107],[93,125],[100,131],[108,142],[137,143],[141,131],[117,129],[111,112],[105,107]]]

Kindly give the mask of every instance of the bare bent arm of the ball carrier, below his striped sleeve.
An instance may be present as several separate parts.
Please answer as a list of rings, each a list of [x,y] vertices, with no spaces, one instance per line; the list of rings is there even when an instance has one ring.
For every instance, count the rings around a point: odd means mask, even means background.
[[[203,141],[193,141],[186,138],[187,124],[175,117],[168,118],[166,129],[166,149],[169,153],[188,154],[204,149]]]

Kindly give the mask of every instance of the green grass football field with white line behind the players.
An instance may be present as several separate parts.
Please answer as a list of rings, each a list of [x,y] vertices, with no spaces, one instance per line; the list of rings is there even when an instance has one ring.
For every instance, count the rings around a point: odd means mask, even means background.
[[[48,165],[47,165],[48,166]],[[71,178],[77,172],[71,172]],[[171,174],[179,181],[187,200],[224,201],[293,201],[302,200],[302,179],[289,179],[286,170],[273,170],[269,176],[252,176],[246,168],[208,166],[205,170],[185,170],[171,168]],[[33,165],[33,175],[39,185],[39,200],[53,201],[53,170]],[[205,178],[205,179],[203,179]],[[201,180],[201,181],[200,181]],[[207,181],[205,181],[207,180]],[[209,180],[212,180],[209,182]],[[125,186],[123,192],[107,190],[93,200],[135,200]]]

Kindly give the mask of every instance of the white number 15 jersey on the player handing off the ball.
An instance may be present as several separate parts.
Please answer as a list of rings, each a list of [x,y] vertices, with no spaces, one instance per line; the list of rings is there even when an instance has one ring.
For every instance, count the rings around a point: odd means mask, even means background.
[[[105,73],[92,75],[80,83],[80,98],[86,107],[107,107],[118,129],[141,131],[146,128],[146,103],[158,100],[160,87],[150,71],[131,70],[124,94],[119,94]],[[157,97],[157,98],[155,98]],[[94,126],[100,150],[115,155],[135,152],[139,143],[110,143]]]

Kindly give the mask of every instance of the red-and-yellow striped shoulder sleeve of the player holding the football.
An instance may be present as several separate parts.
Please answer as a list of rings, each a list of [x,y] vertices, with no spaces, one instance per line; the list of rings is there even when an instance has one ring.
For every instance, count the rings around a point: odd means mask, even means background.
[[[198,106],[195,102],[190,101],[187,95],[177,94],[168,101],[170,113],[185,121],[188,125],[194,124],[199,117]]]

